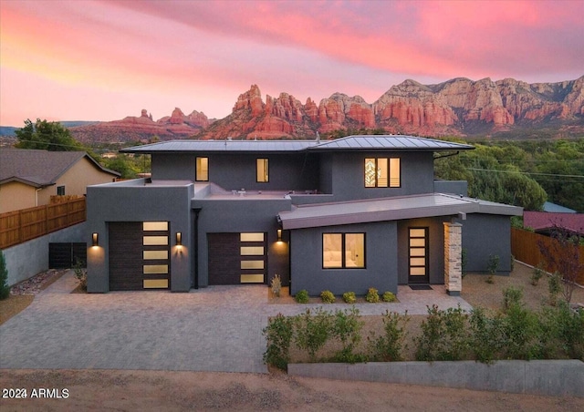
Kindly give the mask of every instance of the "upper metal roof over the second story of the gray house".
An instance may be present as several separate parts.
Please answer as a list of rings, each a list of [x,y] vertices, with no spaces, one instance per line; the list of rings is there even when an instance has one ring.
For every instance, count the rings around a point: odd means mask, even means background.
[[[450,141],[402,135],[359,135],[335,140],[171,140],[121,149],[126,153],[185,151],[289,152],[329,150],[467,150],[473,146]]]

